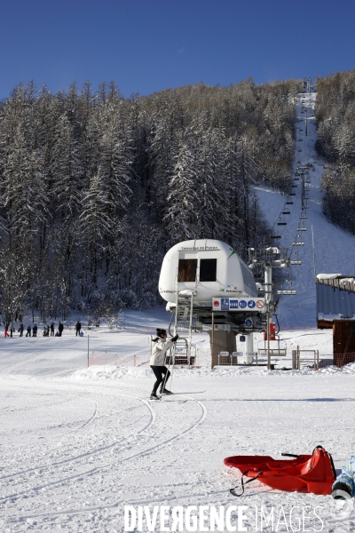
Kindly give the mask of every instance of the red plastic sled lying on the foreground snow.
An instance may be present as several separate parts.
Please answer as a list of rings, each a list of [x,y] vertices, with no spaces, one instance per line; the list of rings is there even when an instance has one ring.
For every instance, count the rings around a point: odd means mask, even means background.
[[[294,458],[275,460],[270,456],[233,456],[225,458],[225,465],[241,471],[241,494],[244,485],[256,478],[272,489],[331,493],[336,478],[335,467],[331,455],[322,446],[317,446],[312,455],[282,455]],[[244,482],[244,476],[251,479]],[[235,489],[231,489],[231,493],[241,496]]]

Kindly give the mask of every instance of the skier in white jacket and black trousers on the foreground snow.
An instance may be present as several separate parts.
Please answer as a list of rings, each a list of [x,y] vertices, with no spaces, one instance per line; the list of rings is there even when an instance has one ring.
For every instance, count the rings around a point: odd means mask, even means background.
[[[153,348],[150,358],[150,368],[154,371],[156,381],[154,383],[153,391],[150,396],[151,400],[160,400],[160,396],[156,394],[158,387],[161,386],[161,394],[172,394],[165,388],[165,385],[170,377],[170,371],[165,366],[165,357],[167,350],[173,346],[177,341],[178,335],[167,340],[166,330],[157,328],[157,338],[152,339]]]

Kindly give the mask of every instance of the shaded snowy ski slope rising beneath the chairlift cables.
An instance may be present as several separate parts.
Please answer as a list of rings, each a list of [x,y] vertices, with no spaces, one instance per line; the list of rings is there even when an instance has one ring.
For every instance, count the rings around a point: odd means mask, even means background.
[[[314,283],[314,267],[312,258],[312,227],[314,232],[316,273],[342,273],[355,274],[355,237],[344,232],[341,228],[335,227],[327,221],[322,212],[322,193],[319,187],[319,179],[323,172],[324,162],[319,159],[315,151],[315,141],[317,139],[316,122],[314,118],[314,103],[317,94],[300,94],[296,106],[296,154],[294,171],[297,162],[301,165],[311,163],[311,191],[308,200],[308,219],[305,219],[307,231],[302,232],[304,246],[299,248],[301,266],[292,267],[292,277],[296,283],[296,296],[283,296],[278,309],[281,326],[300,326],[316,324],[316,289]],[[305,135],[305,113],[302,108],[308,110],[308,135]],[[296,196],[294,205],[290,205],[291,215],[286,215],[288,225],[285,227],[275,226],[281,229],[282,237],[280,246],[288,249],[292,248],[292,243],[296,237],[296,228],[300,222],[301,212],[301,180],[296,181],[298,187],[294,189]],[[286,196],[280,193],[257,187],[257,195],[264,211],[264,216],[273,225],[279,218],[286,201]],[[284,228],[284,229],[283,229]],[[295,257],[295,256],[294,256]]]

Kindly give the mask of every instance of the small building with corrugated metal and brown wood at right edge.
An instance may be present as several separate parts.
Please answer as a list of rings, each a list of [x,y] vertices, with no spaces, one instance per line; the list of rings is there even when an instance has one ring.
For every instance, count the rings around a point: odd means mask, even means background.
[[[355,276],[318,274],[317,326],[333,330],[336,366],[355,362]]]

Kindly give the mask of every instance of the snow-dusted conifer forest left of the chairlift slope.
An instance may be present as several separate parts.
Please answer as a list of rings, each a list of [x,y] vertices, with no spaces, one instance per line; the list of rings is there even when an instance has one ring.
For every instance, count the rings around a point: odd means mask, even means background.
[[[154,306],[171,245],[218,238],[245,256],[265,242],[253,185],[290,187],[300,90],[16,87],[0,107],[3,320]]]

